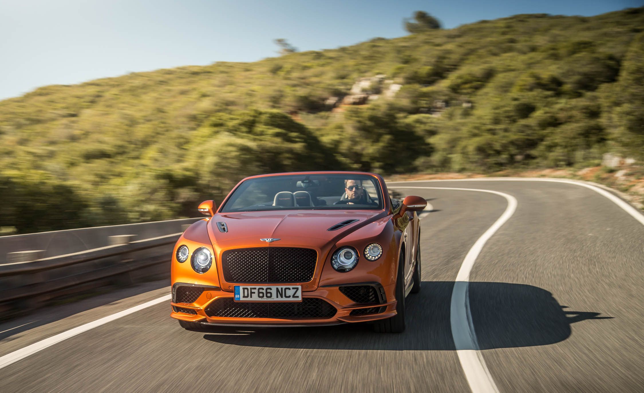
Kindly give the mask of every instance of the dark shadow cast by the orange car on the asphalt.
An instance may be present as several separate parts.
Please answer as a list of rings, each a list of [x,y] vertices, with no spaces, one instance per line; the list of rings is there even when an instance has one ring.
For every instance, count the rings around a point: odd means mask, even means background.
[[[407,328],[401,334],[371,331],[367,324],[328,327],[213,327],[206,340],[249,347],[388,351],[454,351],[450,300],[454,282],[422,282],[407,298]],[[545,289],[504,282],[470,282],[471,315],[480,349],[530,347],[561,342],[570,324],[611,318],[567,311]]]

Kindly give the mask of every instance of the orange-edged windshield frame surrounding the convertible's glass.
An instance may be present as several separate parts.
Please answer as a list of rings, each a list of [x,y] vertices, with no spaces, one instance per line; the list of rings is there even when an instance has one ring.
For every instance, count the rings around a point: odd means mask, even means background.
[[[364,207],[354,207],[354,208],[339,208],[339,206],[346,206],[346,205],[320,205],[320,206],[292,206],[288,208],[265,208],[265,209],[247,209],[247,210],[227,210],[226,205],[229,204],[229,202],[232,199],[232,196],[237,192],[240,187],[244,183],[247,183],[248,181],[253,181],[256,179],[267,179],[267,178],[281,178],[281,177],[295,177],[295,176],[361,176],[366,178],[371,178],[368,179],[369,181],[373,180],[373,184],[377,193],[378,197],[378,205],[377,206],[364,206]],[[280,212],[280,211],[285,211],[285,210],[341,210],[343,212],[350,212],[352,210],[355,211],[364,211],[364,210],[376,210],[376,211],[382,211],[386,209],[386,201],[384,201],[384,192],[383,192],[383,182],[379,178],[379,176],[372,174],[372,173],[367,173],[367,172],[290,172],[290,173],[284,173],[284,174],[269,174],[269,175],[261,175],[261,176],[252,176],[249,178],[245,178],[240,183],[238,183],[232,190],[229,192],[229,194],[223,199],[222,204],[219,206],[217,209],[216,214],[234,214],[234,213],[244,213],[244,212]]]

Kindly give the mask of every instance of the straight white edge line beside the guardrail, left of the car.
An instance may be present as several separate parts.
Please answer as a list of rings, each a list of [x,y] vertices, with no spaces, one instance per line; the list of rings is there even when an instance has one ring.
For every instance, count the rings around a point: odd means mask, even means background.
[[[103,318],[97,319],[92,322],[88,322],[87,324],[80,325],[77,327],[74,327],[73,329],[70,329],[68,331],[64,331],[59,334],[55,334],[51,337],[45,338],[44,340],[40,340],[39,342],[35,342],[31,345],[27,345],[24,348],[17,349],[14,352],[10,352],[4,356],[0,357],[0,369],[3,367],[6,367],[10,365],[11,363],[15,363],[16,361],[19,361],[21,359],[26,358],[27,356],[31,354],[35,354],[36,352],[43,351],[43,349],[51,347],[55,343],[59,343],[61,341],[67,340],[70,337],[76,336],[77,334],[81,334],[85,331],[88,331],[90,329],[93,329],[97,326],[107,324],[108,322],[111,322],[113,320],[116,320],[122,316],[130,315],[132,313],[136,313],[137,311],[140,311],[144,308],[154,306],[155,304],[159,304],[161,302],[167,302],[168,300],[171,299],[171,295],[165,295],[160,298],[156,298],[154,300],[150,300],[149,302],[145,302],[143,304],[139,304],[138,306],[130,307],[129,309],[125,309],[123,311],[119,311],[118,313],[104,316]]]

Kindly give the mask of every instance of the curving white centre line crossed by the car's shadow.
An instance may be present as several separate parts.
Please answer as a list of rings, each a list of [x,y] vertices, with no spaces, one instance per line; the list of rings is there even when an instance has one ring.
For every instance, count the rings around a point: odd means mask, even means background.
[[[469,388],[474,393],[492,392],[498,393],[497,385],[489,373],[488,366],[483,359],[481,352],[478,350],[477,336],[474,331],[472,315],[469,311],[469,273],[471,273],[474,262],[478,254],[483,249],[488,239],[497,232],[506,221],[512,217],[516,210],[515,197],[504,192],[493,190],[480,190],[478,188],[451,188],[451,187],[398,187],[395,188],[418,188],[433,190],[457,190],[457,191],[475,191],[488,192],[497,194],[506,198],[507,207],[503,214],[498,217],[492,226],[478,238],[474,245],[469,249],[462,264],[459,273],[456,276],[456,282],[451,292],[450,306],[450,323],[451,335],[456,347],[456,353],[459,356],[460,366],[463,369],[465,378],[468,380]]]

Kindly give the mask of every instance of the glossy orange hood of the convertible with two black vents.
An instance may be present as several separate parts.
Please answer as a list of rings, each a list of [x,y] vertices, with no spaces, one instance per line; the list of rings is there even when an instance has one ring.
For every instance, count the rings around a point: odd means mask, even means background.
[[[208,223],[213,245],[221,248],[272,246],[313,246],[323,248],[347,233],[384,217],[383,210],[263,211],[216,214]],[[357,220],[337,230],[328,230],[346,220]],[[221,232],[225,223],[228,232]],[[275,242],[260,239],[279,239]]]

